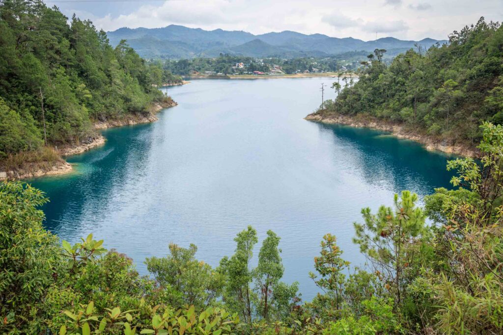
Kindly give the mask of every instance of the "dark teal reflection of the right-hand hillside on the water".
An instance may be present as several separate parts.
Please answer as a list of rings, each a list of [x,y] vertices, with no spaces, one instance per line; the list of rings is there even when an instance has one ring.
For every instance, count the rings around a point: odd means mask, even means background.
[[[432,185],[449,187],[452,177],[446,165],[454,156],[425,154],[421,144],[401,140],[387,132],[367,128],[316,123],[320,132],[336,143],[334,153],[341,164],[355,167],[367,183],[376,183],[395,192],[410,189],[432,193]]]

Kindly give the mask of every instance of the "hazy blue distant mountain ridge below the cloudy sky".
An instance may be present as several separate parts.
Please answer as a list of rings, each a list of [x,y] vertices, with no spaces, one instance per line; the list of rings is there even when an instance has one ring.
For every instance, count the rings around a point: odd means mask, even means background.
[[[398,53],[414,48],[416,44],[428,49],[436,43],[447,42],[431,38],[421,41],[403,41],[393,37],[362,41],[352,37],[306,35],[288,30],[254,35],[243,31],[222,29],[208,31],[178,25],[152,29],[120,28],[108,32],[107,35],[112,45],[117,45],[120,40],[127,40],[128,44],[142,57],[175,59],[216,57],[220,53],[251,57],[323,57],[348,51],[373,51],[376,48]]]

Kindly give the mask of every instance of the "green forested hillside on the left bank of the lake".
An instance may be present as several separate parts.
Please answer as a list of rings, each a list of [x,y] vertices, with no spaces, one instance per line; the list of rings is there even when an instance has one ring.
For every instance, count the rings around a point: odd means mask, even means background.
[[[93,122],[147,114],[170,73],[89,20],[41,1],[0,2],[0,162],[44,144],[88,141]],[[1,164],[0,164],[1,165]]]

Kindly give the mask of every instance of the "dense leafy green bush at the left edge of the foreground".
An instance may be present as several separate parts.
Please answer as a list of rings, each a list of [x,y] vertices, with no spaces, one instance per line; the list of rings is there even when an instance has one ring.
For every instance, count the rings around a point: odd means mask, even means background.
[[[0,315],[7,329],[22,327],[60,264],[57,238],[42,228],[44,213],[35,208],[46,201],[29,185],[0,183]]]

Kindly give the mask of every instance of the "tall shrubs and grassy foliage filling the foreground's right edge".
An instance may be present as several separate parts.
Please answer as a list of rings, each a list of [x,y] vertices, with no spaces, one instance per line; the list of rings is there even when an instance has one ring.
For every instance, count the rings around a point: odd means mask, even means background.
[[[422,295],[415,301],[423,301],[428,323],[444,333],[498,333],[503,325],[503,132],[499,125],[481,128],[481,167],[471,159],[448,165],[458,170],[452,183],[471,190],[440,189],[427,198],[430,216],[442,226],[431,241],[435,262],[411,286],[414,296]]]

